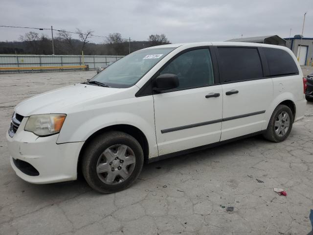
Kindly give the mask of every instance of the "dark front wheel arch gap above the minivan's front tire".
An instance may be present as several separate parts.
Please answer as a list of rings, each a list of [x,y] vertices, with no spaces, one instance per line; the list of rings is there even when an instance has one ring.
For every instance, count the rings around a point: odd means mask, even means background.
[[[148,140],[147,140],[147,137],[145,136],[145,134],[139,128],[137,128],[133,125],[116,124],[116,125],[107,126],[107,127],[104,127],[100,130],[97,130],[95,133],[90,135],[88,137],[88,139],[84,142],[84,144],[80,150],[79,156],[78,156],[77,174],[81,173],[81,162],[82,162],[83,153],[85,151],[86,146],[88,146],[89,142],[92,141],[95,137],[97,137],[98,135],[100,135],[102,133],[108,132],[108,131],[121,131],[121,132],[127,133],[127,134],[131,135],[132,137],[134,137],[142,147],[145,162],[148,161],[148,159],[149,159],[149,143],[148,143]]]

